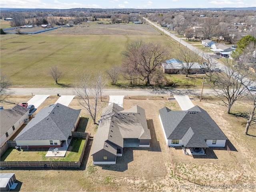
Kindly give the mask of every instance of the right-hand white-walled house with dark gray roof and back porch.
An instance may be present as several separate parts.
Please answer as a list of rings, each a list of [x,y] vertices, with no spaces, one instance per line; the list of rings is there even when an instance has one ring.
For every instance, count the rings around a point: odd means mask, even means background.
[[[210,115],[194,106],[186,111],[159,110],[159,119],[168,146],[182,146],[184,154],[205,154],[208,147],[225,147],[228,139]],[[186,151],[187,150],[187,151]]]

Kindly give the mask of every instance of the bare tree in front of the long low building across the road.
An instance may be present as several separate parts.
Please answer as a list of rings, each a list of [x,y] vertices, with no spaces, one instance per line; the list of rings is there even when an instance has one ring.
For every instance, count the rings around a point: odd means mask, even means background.
[[[188,77],[190,69],[199,59],[198,51],[191,51],[188,48],[182,48],[176,57],[178,60],[180,60],[180,65],[182,66],[182,69],[185,71],[186,77]]]

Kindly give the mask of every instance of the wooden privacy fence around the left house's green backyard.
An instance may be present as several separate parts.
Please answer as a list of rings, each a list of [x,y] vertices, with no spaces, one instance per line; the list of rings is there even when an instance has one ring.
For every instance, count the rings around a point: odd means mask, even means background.
[[[7,167],[19,167],[19,168],[31,168],[31,167],[50,167],[50,168],[60,168],[60,167],[70,167],[79,168],[86,149],[86,145],[89,139],[89,134],[86,133],[86,140],[79,158],[78,162],[72,161],[1,161],[1,168]]]

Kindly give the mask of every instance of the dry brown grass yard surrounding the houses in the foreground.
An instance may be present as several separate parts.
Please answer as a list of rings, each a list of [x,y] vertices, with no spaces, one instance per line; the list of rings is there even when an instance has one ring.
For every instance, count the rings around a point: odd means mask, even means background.
[[[24,102],[26,97],[30,98],[30,96],[18,97],[13,100]],[[56,99],[55,96],[49,97],[43,106],[47,106],[51,102],[54,103]],[[108,97],[104,97],[102,104],[107,104],[108,99]],[[256,182],[256,155],[254,153],[256,142],[255,137],[243,135],[246,119],[226,114],[226,108],[214,98],[204,97],[203,102],[199,102],[196,98],[192,102],[210,114],[234,146],[232,149],[237,150],[232,151],[232,154],[236,156],[245,175],[248,176],[244,180],[244,184],[254,184]],[[90,150],[93,145],[93,137],[96,134],[96,126],[89,119],[86,132],[90,132],[92,138],[88,142],[84,161],[79,170],[8,169],[1,172],[15,172],[16,178],[20,182],[18,185],[20,191],[180,191],[182,190],[180,189],[181,184],[192,184],[173,174],[168,148],[158,119],[160,108],[167,106],[172,110],[180,110],[178,103],[175,100],[167,101],[167,98],[162,98],[162,96],[125,97],[125,109],[135,104],[146,111],[148,127],[152,135],[149,149],[125,148],[124,156],[117,158],[116,165],[94,166]],[[80,108],[76,99],[72,100],[70,107]],[[250,107],[250,103],[242,100],[238,101],[232,110],[233,112],[246,112]],[[82,110],[82,116],[88,117],[85,110]],[[250,128],[249,133],[255,135],[255,125]],[[209,182],[232,184],[240,174],[225,148],[212,148],[206,151],[206,156],[196,158],[183,155],[179,148],[170,148],[170,150],[178,173],[201,184],[209,184]],[[174,188],[175,184],[179,185],[178,189]],[[190,188],[186,190],[208,191],[209,189]],[[212,189],[212,191],[219,190]],[[230,190],[241,191],[243,189],[231,188]]]

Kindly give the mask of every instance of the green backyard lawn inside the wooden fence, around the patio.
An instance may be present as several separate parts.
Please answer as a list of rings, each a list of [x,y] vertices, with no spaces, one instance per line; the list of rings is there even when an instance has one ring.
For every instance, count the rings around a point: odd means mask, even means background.
[[[84,139],[73,138],[65,157],[45,157],[49,148],[30,148],[16,150],[9,148],[2,155],[1,161],[78,161],[84,146]]]

